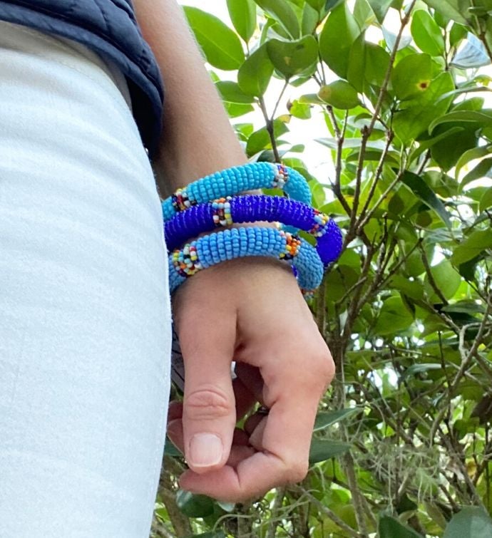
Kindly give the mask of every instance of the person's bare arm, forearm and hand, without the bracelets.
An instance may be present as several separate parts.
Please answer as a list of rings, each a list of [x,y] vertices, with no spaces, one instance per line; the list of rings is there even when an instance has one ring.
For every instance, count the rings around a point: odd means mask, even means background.
[[[158,182],[169,192],[246,162],[175,0],[134,0],[166,86]],[[314,417],[334,373],[292,272],[270,259],[237,259],[188,279],[173,297],[185,362],[183,405],[168,433],[185,452],[185,489],[246,500],[307,472]],[[232,383],[230,363],[237,361]],[[255,401],[270,415],[235,424]],[[193,435],[205,434],[193,450]],[[215,435],[215,437],[210,437]],[[220,447],[213,460],[213,441]],[[205,460],[206,455],[209,460]]]

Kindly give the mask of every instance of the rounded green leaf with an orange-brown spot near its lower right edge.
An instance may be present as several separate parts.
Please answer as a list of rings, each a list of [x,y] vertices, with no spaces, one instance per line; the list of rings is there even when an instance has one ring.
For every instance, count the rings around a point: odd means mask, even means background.
[[[394,68],[391,82],[401,100],[415,98],[429,88],[432,79],[432,59],[429,54],[405,56]]]

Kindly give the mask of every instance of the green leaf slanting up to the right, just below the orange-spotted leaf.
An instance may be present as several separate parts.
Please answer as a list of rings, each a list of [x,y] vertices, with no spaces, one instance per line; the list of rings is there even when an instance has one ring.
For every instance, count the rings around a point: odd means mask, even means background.
[[[453,77],[450,73],[441,73],[429,88],[417,99],[405,101],[408,108],[396,112],[394,115],[394,132],[400,140],[408,144],[429,129],[433,120],[446,113],[451,104],[452,97],[439,101],[441,95],[454,89]]]

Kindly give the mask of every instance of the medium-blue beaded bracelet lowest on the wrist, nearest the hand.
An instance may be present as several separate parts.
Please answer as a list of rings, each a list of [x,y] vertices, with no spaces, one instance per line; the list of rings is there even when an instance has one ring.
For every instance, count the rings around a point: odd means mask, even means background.
[[[246,256],[286,260],[295,269],[303,291],[312,292],[323,278],[323,262],[316,249],[304,239],[274,228],[232,228],[200,237],[170,254],[170,291],[175,291],[188,276],[201,269]]]

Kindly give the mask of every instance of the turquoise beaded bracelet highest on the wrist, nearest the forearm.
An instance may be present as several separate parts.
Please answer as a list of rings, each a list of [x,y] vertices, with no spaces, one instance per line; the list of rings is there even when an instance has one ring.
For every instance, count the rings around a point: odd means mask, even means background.
[[[306,204],[311,201],[307,181],[292,168],[272,162],[250,162],[202,177],[178,189],[162,202],[167,221],[175,213],[216,198],[237,195],[254,189],[282,189],[288,197]]]

